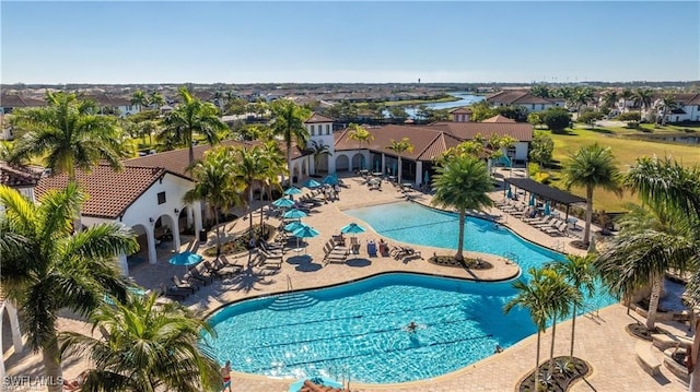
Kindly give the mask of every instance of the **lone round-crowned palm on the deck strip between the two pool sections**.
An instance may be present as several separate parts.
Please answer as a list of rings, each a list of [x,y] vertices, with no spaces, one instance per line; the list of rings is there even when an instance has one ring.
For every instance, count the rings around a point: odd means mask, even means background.
[[[493,185],[486,164],[470,155],[446,156],[433,178],[435,194],[432,203],[459,210],[459,239],[455,259],[464,260],[464,224],[467,210],[480,210],[493,204],[488,192]]]

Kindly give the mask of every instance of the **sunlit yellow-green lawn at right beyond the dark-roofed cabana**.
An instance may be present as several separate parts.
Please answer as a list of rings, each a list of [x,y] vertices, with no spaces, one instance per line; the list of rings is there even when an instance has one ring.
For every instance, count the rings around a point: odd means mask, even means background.
[[[680,133],[682,129],[689,127],[674,127],[667,126],[662,129],[654,129],[653,124],[643,124],[645,128],[651,128],[653,133],[668,132]],[[582,127],[582,126],[579,126]],[[603,146],[609,146],[612,150],[612,154],[618,163],[618,167],[621,171],[626,171],[627,168],[634,164],[638,157],[641,156],[666,156],[670,155],[673,158],[682,162],[684,165],[692,166],[700,164],[700,149],[697,144],[678,144],[678,143],[662,143],[646,140],[639,140],[629,138],[629,134],[648,134],[642,131],[631,130],[627,128],[598,128],[594,130],[584,128],[568,129],[567,134],[551,134],[555,141],[553,161],[555,164],[561,165],[564,163],[569,155],[576,152],[584,145],[598,143]],[[684,132],[685,133],[685,132]],[[688,133],[691,134],[691,133]],[[559,169],[550,169],[551,185],[564,189],[563,178]],[[572,189],[572,193],[581,197],[585,197],[585,190]],[[606,212],[622,212],[626,211],[625,204],[639,203],[639,199],[635,195],[626,191],[622,198],[618,198],[614,192],[608,192],[602,189],[596,189],[593,195],[593,203],[595,210],[604,210]]]

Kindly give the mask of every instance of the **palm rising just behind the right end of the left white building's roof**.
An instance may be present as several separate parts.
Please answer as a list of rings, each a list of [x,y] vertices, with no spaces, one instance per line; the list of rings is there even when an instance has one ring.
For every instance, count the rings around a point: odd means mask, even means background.
[[[228,131],[229,127],[219,118],[219,109],[210,103],[203,103],[192,97],[186,87],[178,90],[183,103],[171,111],[164,119],[165,129],[156,139],[173,138],[189,149],[189,165],[195,163],[192,149],[194,134],[200,134],[211,145],[219,143],[219,133]]]

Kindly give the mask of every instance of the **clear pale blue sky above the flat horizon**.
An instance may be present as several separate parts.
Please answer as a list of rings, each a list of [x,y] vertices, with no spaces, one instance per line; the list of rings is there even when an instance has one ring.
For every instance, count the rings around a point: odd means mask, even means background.
[[[700,80],[698,1],[7,1],[2,83]]]

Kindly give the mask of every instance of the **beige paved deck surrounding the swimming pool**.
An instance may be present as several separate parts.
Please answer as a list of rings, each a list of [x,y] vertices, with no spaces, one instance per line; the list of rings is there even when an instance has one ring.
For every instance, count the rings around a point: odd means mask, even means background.
[[[280,270],[264,270],[256,266],[248,268],[243,274],[232,278],[220,280],[212,285],[202,287],[195,296],[190,296],[184,301],[196,312],[209,313],[228,302],[250,298],[259,295],[272,293],[283,293],[288,290],[291,282],[293,289],[320,287],[330,284],[357,280],[360,277],[388,272],[409,271],[446,275],[462,278],[500,280],[517,274],[518,269],[514,264],[508,264],[500,258],[487,259],[494,264],[491,270],[469,270],[457,268],[445,268],[429,263],[425,259],[438,252],[438,254],[452,254],[453,251],[444,249],[433,249],[430,247],[413,246],[420,251],[423,259],[405,258],[396,260],[394,258],[369,258],[366,254],[366,240],[377,240],[383,238],[374,233],[369,225],[358,221],[342,211],[365,205],[390,203],[406,200],[406,195],[397,191],[392,185],[384,182],[383,190],[369,190],[362,185],[360,177],[347,177],[343,179],[350,188],[342,188],[340,200],[323,204],[314,209],[308,217],[303,222],[320,231],[316,238],[307,239],[308,245],[299,254],[293,250],[288,251]],[[430,204],[430,195],[420,192],[409,192],[412,200]],[[502,199],[502,191],[494,191],[494,200]],[[528,226],[521,221],[509,217],[499,210],[492,209],[486,212],[492,218],[504,226],[511,227],[522,237],[542,245],[548,248],[559,248],[563,246],[565,252],[574,253],[579,250],[569,246],[572,238],[549,237],[542,231]],[[254,219],[258,222],[260,215],[254,213]],[[269,217],[267,222],[273,225],[279,224],[279,219]],[[357,237],[361,243],[360,254],[357,258],[350,257],[346,264],[325,264],[323,260],[323,246],[330,239],[331,235],[339,234],[340,227],[350,222],[357,222],[368,230]],[[226,224],[225,231],[232,236],[247,227],[248,222],[241,218],[234,223]],[[347,237],[350,237],[347,235]],[[397,241],[384,238],[390,245],[399,245]],[[199,247],[194,238],[183,241],[183,249],[201,251],[203,248],[213,246],[213,233],[210,234],[206,246]],[[305,252],[308,256],[305,256]],[[136,282],[147,288],[158,287],[161,283],[170,282],[173,274],[182,275],[184,269],[175,268],[167,263],[171,252],[162,250],[159,252],[158,264],[142,263],[135,266],[131,275]],[[256,254],[243,254],[235,258],[230,257],[231,262],[247,264],[249,260],[255,261]],[[501,311],[501,309],[494,309]],[[626,308],[614,305],[602,309],[599,313],[586,313],[576,320],[576,341],[574,344],[574,355],[585,359],[593,367],[593,372],[579,381],[571,389],[572,391],[684,391],[687,384],[679,381],[668,370],[662,367],[662,376],[652,378],[635,361],[634,345],[638,342],[625,331],[625,325],[635,320],[643,321],[641,317],[627,316]],[[687,326],[680,323],[660,323],[667,330],[676,334],[689,334]],[[80,330],[88,332],[89,328],[81,321],[71,318],[61,318],[62,330]],[[557,325],[557,342],[555,355],[568,355],[570,347],[571,321]],[[3,332],[4,333],[4,332]],[[5,334],[5,336],[9,336]],[[540,360],[548,358],[550,344],[550,330],[542,335]],[[401,384],[366,385],[351,381],[353,391],[513,391],[518,382],[528,371],[534,368],[536,336],[530,336],[518,344],[509,347],[503,353],[493,355],[477,364],[458,371],[436,377],[430,380],[422,380]],[[31,375],[38,376],[42,371],[40,355],[33,355],[25,351],[21,354],[5,352],[9,357],[9,375]],[[83,359],[67,358],[65,363],[65,376],[70,378],[77,376],[88,364]],[[287,391],[292,379],[270,379],[261,376],[234,373],[233,391]]]

